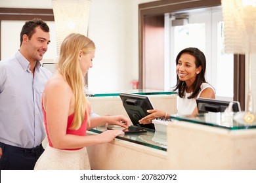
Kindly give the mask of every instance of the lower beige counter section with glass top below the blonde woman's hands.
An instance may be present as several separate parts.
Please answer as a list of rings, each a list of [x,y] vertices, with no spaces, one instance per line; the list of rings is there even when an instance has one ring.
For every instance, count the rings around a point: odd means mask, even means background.
[[[95,135],[106,128],[89,131]],[[152,141],[154,132],[124,135],[114,141],[87,147],[92,169],[167,169],[166,145]]]

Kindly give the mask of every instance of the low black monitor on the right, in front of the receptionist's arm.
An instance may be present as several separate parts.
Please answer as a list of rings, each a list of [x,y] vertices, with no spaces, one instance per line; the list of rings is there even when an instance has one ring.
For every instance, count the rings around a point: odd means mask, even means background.
[[[232,111],[241,111],[240,103],[238,101],[221,101],[217,99],[198,98],[196,99],[196,105],[198,112],[224,112],[226,108],[232,103]]]

